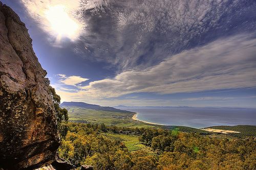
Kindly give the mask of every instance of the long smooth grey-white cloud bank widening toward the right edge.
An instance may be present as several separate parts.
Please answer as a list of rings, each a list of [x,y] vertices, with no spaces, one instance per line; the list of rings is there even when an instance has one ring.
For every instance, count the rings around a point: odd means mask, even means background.
[[[59,93],[70,100],[83,100],[84,96],[99,99],[136,92],[171,94],[255,87],[256,39],[250,37],[239,35],[216,40],[148,69],[125,71],[115,78],[80,86],[77,92]]]

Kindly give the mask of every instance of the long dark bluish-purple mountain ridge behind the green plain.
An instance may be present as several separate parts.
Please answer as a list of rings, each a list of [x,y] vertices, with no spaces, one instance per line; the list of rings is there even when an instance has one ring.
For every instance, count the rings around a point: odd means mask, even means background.
[[[126,110],[120,110],[113,107],[103,107],[99,105],[92,105],[83,102],[63,102],[60,104],[60,107],[80,107],[84,109],[93,109],[93,110],[103,110],[103,111],[111,111],[111,112],[121,112],[121,113],[134,113]]]

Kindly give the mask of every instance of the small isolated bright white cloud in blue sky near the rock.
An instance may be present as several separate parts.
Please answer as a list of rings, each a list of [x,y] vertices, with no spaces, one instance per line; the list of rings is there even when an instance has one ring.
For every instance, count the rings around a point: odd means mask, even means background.
[[[69,76],[69,77],[67,77],[66,75],[61,75],[61,74],[59,74],[57,76],[60,77],[60,80],[59,80],[60,83],[63,83],[65,85],[71,85],[71,86],[76,86],[79,83],[82,83],[82,82],[85,82],[85,81],[89,80],[89,79],[86,79],[86,78],[82,78],[80,76]],[[65,90],[67,90],[67,88]],[[72,90],[72,89],[70,89],[70,90]]]

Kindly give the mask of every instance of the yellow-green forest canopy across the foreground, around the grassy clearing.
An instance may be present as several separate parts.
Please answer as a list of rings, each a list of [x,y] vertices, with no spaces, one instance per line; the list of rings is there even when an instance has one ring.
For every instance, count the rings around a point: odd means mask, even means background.
[[[130,152],[126,145],[105,135],[130,132],[149,150]],[[104,124],[62,123],[59,155],[76,166],[94,169],[249,169],[256,168],[253,137],[217,138],[158,128],[121,128]]]

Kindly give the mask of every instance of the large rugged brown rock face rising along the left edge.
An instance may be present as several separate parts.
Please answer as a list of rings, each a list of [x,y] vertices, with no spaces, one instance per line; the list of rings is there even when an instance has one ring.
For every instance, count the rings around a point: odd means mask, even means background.
[[[47,72],[25,24],[0,3],[0,169],[52,163],[59,146]]]

